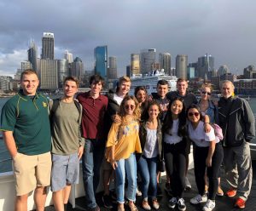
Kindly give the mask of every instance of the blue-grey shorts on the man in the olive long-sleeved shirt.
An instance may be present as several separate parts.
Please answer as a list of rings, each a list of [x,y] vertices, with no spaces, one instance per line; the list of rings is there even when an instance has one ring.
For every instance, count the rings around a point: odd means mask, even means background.
[[[69,184],[79,184],[78,153],[67,156],[52,154],[51,191],[60,191]]]

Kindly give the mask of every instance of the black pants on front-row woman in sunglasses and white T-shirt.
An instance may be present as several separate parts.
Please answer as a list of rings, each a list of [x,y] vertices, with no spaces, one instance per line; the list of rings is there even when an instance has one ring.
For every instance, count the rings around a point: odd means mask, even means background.
[[[194,145],[194,170],[195,170],[195,183],[198,189],[198,193],[203,196],[205,192],[205,180],[204,175],[206,172],[206,159],[208,155],[209,147],[199,147]],[[209,198],[215,200],[216,192],[218,191],[218,174],[219,168],[223,161],[224,153],[220,143],[216,144],[215,151],[212,156],[212,166],[207,168],[207,176],[209,179]]]

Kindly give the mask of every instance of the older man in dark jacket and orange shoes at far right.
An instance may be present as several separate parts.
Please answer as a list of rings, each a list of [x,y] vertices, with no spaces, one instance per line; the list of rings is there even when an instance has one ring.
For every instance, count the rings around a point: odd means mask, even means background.
[[[234,84],[222,83],[222,97],[218,101],[219,125],[224,134],[224,169],[231,188],[228,197],[237,195],[237,208],[245,208],[250,194],[253,168],[248,142],[255,136],[253,111],[247,100],[233,97]]]

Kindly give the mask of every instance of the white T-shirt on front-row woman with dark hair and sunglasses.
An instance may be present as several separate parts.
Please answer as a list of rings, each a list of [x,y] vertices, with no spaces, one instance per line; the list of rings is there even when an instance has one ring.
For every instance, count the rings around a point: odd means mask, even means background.
[[[195,129],[189,122],[188,130],[190,140],[192,140],[197,146],[207,147],[210,145],[210,141],[215,140],[214,129],[212,128],[212,126],[210,132],[206,133],[204,131],[204,123],[201,121],[198,123]]]

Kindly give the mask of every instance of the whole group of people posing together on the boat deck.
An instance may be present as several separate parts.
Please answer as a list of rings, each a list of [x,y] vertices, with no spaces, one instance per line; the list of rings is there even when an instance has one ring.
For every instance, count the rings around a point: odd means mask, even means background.
[[[158,167],[165,161],[166,186],[172,189],[168,207],[184,211],[191,143],[198,195],[190,203],[206,202],[204,211],[215,208],[216,195],[224,195],[223,163],[231,186],[226,194],[237,196],[236,207],[245,208],[253,176],[248,142],[255,136],[255,123],[247,101],[234,97],[230,81],[223,82],[218,102],[210,99],[209,83],[202,85],[201,100],[196,100],[183,78],[177,80],[177,91],[168,92],[168,83],[160,80],[157,93],[148,95],[146,88],[137,87],[131,96],[129,77],[120,77],[116,90],[106,95],[101,94],[104,79],[99,75],[90,77],[90,91],[79,94],[79,81],[67,77],[64,94],[56,100],[39,94],[38,84],[35,71],[23,71],[20,92],[7,101],[1,115],[3,139],[13,158],[15,210],[27,209],[34,190],[37,210],[44,210],[49,185],[55,209],[66,210],[71,185],[79,182],[81,159],[87,210],[100,210],[96,189],[101,168],[107,208],[112,208],[114,180],[118,211],[125,210],[125,198],[131,211],[137,211],[140,178],[142,208],[159,209]],[[217,133],[217,124],[223,135]]]

